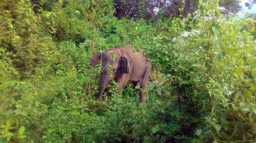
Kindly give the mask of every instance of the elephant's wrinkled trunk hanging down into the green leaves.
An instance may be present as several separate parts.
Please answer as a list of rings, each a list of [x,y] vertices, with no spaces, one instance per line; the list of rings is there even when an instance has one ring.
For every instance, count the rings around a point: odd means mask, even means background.
[[[108,75],[105,76],[101,76],[101,82],[100,82],[100,86],[99,86],[99,93],[97,93],[96,95],[96,101],[101,100],[101,96],[105,90],[105,88],[108,86],[108,84],[110,84],[111,82],[111,77]]]

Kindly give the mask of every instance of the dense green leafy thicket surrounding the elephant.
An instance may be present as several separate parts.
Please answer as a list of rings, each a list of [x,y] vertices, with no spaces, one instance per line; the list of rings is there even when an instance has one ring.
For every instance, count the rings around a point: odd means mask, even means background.
[[[0,2],[0,143],[256,141],[255,17],[221,15],[217,0],[153,24],[114,12],[112,0]],[[130,84],[94,101],[91,55],[127,44],[153,65],[146,105]]]

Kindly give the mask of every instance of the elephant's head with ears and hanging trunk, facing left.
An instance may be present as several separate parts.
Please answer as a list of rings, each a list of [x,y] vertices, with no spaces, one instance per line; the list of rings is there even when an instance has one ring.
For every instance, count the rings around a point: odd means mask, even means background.
[[[116,49],[117,50],[117,49]],[[100,100],[101,96],[112,80],[117,80],[122,74],[128,74],[131,72],[131,68],[128,62],[128,58],[119,55],[116,56],[115,60],[111,59],[111,54],[117,54],[115,50],[108,50],[103,53],[97,52],[92,55],[90,65],[95,67],[98,62],[101,61],[101,82],[99,86],[99,93],[96,95],[96,100]],[[111,66],[112,68],[109,68]],[[112,69],[112,72],[108,71]]]

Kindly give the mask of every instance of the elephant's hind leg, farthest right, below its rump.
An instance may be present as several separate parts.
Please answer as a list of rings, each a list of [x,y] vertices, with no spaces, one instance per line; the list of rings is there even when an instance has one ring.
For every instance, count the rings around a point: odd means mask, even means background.
[[[142,105],[146,104],[146,94],[147,94],[146,84],[147,84],[147,79],[148,79],[150,70],[151,70],[151,63],[147,62],[145,71],[139,81],[140,87],[143,89],[142,91],[139,92],[139,101]]]

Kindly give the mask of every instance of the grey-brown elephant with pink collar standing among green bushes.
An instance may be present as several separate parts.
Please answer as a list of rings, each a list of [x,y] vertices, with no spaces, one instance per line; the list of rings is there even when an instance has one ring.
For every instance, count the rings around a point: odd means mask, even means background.
[[[140,96],[139,101],[142,104],[146,103],[146,83],[151,70],[151,63],[149,59],[142,55],[140,51],[133,51],[132,45],[128,45],[116,50],[108,50],[103,53],[97,52],[92,55],[90,65],[95,67],[97,62],[102,62],[101,68],[101,82],[99,85],[99,93],[96,95],[96,100],[100,100],[101,96],[107,87],[111,83],[112,79],[119,85],[118,92],[120,93],[128,81],[131,81],[133,85],[140,84]],[[113,53],[114,52],[114,53]],[[110,59],[112,54],[117,54],[115,60]],[[108,66],[112,66],[112,75],[108,74]],[[111,73],[111,72],[109,72]],[[150,77],[151,78],[151,77]],[[152,80],[152,79],[151,79]]]

